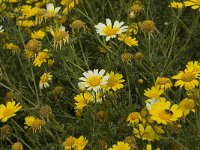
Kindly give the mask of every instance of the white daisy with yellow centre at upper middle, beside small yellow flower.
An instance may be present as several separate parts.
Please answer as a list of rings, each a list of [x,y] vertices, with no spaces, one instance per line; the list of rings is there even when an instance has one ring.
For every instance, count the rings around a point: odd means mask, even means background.
[[[106,25],[103,23],[98,23],[94,27],[98,34],[106,36],[106,41],[109,41],[110,38],[115,38],[117,34],[121,34],[128,30],[128,26],[122,26],[124,22],[115,21],[114,25],[110,19],[106,19]]]

